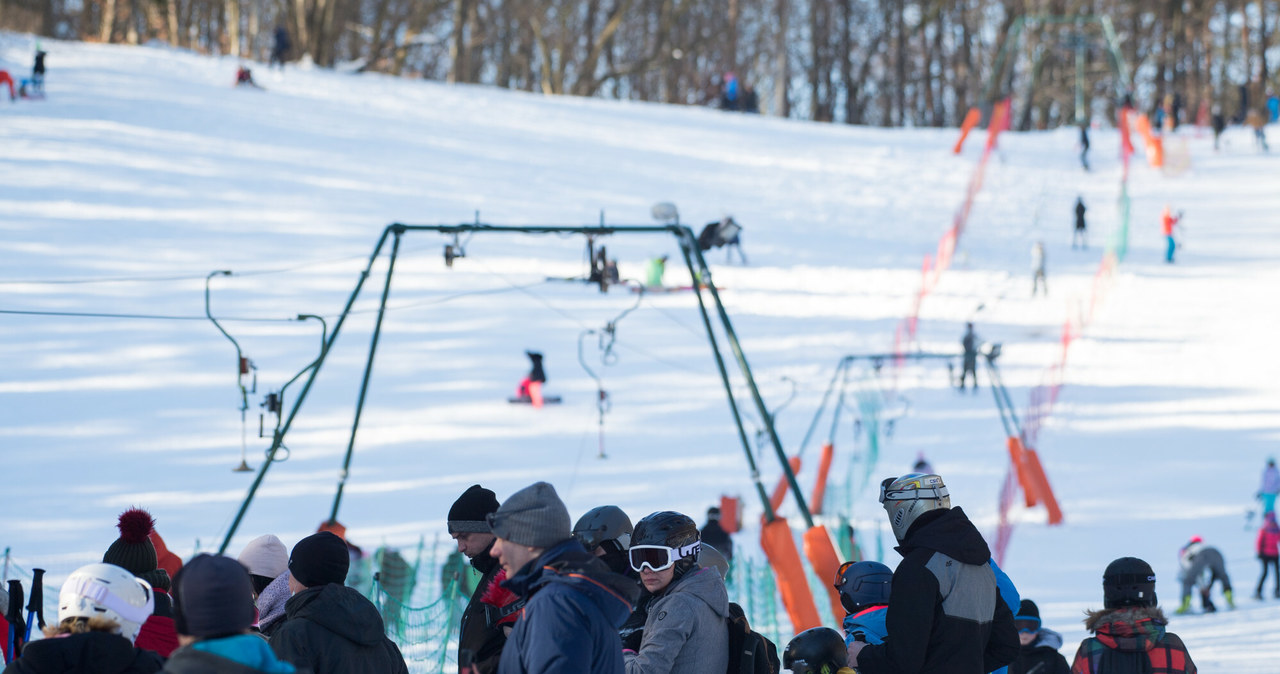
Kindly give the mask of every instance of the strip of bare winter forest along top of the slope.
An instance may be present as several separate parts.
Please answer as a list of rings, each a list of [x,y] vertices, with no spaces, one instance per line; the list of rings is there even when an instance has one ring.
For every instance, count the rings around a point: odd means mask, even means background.
[[[1028,20],[1016,90],[992,86],[1019,19],[1074,15],[1112,22],[1129,82],[1096,23]],[[714,105],[733,73],[762,113],[819,121],[951,127],[1012,93],[1020,129],[1114,118],[1121,90],[1243,119],[1276,88],[1277,23],[1280,0],[0,0],[12,31],[265,61],[283,26],[291,60],[544,93]]]

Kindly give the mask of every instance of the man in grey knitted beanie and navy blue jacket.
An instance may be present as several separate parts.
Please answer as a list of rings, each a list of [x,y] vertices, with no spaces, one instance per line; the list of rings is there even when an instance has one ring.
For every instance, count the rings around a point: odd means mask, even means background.
[[[573,538],[556,487],[535,482],[488,521],[492,554],[508,574],[503,587],[525,599],[499,674],[622,674],[618,627],[631,614],[635,583]]]

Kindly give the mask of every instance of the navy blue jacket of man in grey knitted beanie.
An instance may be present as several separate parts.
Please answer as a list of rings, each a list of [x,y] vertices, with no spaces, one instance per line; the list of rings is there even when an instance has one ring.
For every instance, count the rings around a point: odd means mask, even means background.
[[[503,587],[525,607],[502,650],[499,674],[622,674],[618,628],[631,614],[635,583],[566,538]]]

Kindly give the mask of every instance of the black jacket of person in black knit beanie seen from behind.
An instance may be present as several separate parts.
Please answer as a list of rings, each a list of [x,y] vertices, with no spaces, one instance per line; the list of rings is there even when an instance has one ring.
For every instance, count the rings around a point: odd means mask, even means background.
[[[337,583],[308,587],[285,602],[271,650],[316,674],[408,674],[399,648],[383,633],[378,607]]]

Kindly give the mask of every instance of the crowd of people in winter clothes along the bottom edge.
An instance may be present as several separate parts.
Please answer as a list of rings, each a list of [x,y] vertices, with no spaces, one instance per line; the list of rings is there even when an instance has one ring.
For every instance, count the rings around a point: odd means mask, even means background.
[[[925,466],[925,468],[928,468]],[[1270,462],[1260,499],[1262,578],[1276,568],[1274,501],[1280,472]],[[704,674],[773,671],[1153,674],[1194,673],[1185,645],[1167,632],[1156,574],[1120,558],[1102,576],[1102,609],[1087,613],[1091,636],[1074,659],[1062,636],[1020,597],[942,477],[911,472],[881,483],[879,503],[901,555],[841,565],[833,579],[840,629],[796,634],[781,659],[768,639],[744,665],[741,606],[728,600],[732,538],[710,508],[699,527],[660,510],[632,524],[616,505],[576,524],[556,489],[535,482],[506,500],[472,485],[448,512],[458,553],[480,574],[461,613],[458,671]],[[201,554],[182,564],[141,509],[120,515],[120,537],[102,563],[61,586],[58,622],[27,645],[5,674],[90,673],[407,673],[378,607],[346,579],[352,547],[332,531],[292,550],[274,535],[238,558]],[[731,529],[733,527],[730,527]],[[710,542],[716,544],[713,547]],[[1199,537],[1180,550],[1181,605],[1193,588],[1204,610],[1221,583],[1221,554]],[[170,573],[170,570],[173,573]],[[1280,573],[1276,576],[1280,597]]]

